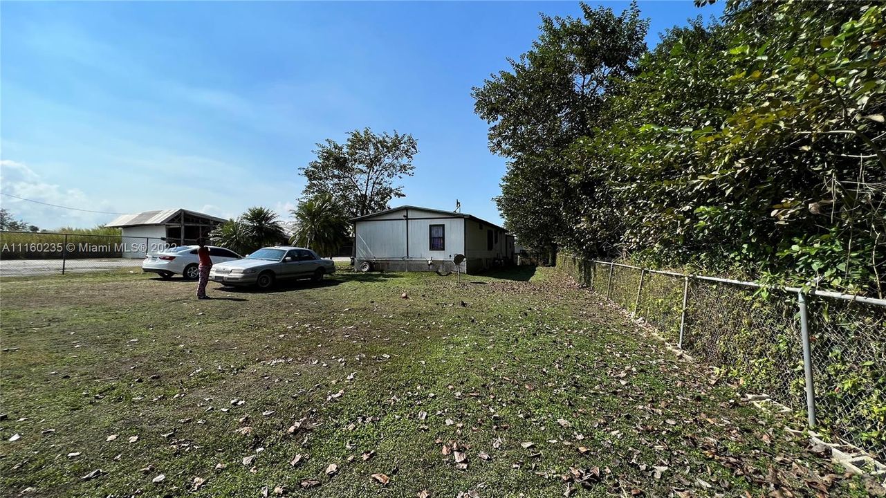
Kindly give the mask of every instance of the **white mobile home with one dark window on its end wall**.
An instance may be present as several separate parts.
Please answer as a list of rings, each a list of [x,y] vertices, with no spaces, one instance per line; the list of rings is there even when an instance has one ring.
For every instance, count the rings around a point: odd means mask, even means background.
[[[508,230],[470,214],[400,206],[354,218],[354,264],[375,270],[478,273],[514,259]],[[453,259],[464,254],[460,268]]]

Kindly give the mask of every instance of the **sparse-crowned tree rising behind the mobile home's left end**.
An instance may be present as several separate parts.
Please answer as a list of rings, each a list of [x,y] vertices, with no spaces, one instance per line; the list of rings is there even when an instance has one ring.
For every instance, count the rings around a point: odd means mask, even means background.
[[[404,197],[396,182],[413,175],[418,145],[408,134],[364,128],[350,132],[344,144],[327,139],[314,152],[317,158],[299,169],[307,180],[304,195],[329,195],[354,218],[387,209],[392,198]]]

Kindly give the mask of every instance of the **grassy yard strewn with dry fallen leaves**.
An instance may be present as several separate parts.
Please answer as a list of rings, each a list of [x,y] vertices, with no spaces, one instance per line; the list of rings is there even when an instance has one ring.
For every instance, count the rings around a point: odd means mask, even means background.
[[[265,293],[210,284],[207,301],[194,286],[128,271],[2,281],[0,494],[871,486],[552,268],[461,285],[425,274]]]

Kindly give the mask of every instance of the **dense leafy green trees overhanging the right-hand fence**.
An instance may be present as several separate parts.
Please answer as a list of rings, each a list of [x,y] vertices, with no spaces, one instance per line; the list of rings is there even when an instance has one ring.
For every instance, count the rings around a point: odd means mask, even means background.
[[[882,295],[883,39],[879,4],[733,3],[672,30],[572,161],[625,220],[589,237]]]

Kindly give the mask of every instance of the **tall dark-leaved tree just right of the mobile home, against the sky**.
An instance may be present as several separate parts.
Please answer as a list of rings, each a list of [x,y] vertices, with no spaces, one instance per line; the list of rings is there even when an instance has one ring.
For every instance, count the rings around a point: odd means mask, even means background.
[[[636,4],[621,14],[581,4],[582,18],[542,16],[539,39],[510,70],[473,90],[490,123],[490,150],[509,158],[495,198],[521,244],[553,249],[574,236],[579,212],[560,160],[602,124],[611,95],[646,51],[648,21]]]

